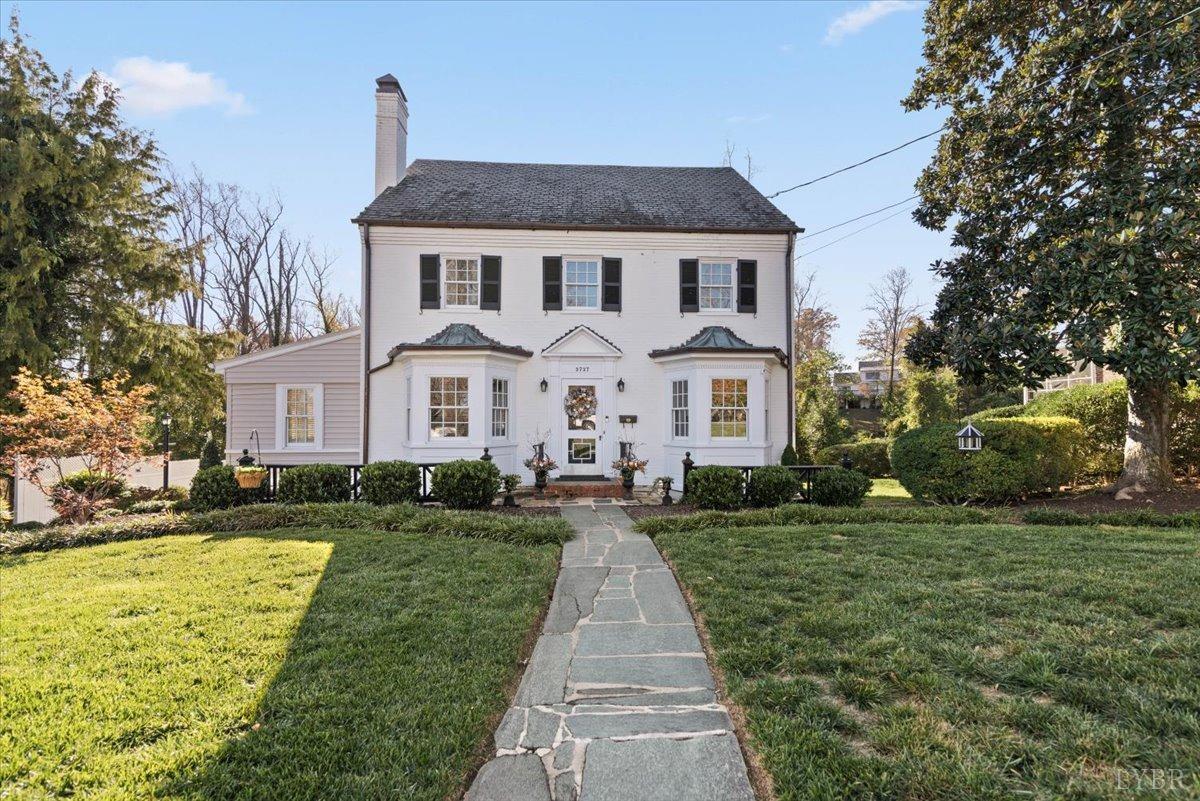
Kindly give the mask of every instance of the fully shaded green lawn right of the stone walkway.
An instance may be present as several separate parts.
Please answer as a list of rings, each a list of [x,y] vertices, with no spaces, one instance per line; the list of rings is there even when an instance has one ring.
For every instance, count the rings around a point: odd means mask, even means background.
[[[1154,797],[1200,797],[1200,531],[872,524],[656,542],[780,801],[1118,799],[1138,769],[1183,771]]]

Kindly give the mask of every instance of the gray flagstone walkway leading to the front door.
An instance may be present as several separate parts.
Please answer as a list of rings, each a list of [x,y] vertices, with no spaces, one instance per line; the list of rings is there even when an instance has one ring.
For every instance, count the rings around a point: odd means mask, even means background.
[[[654,543],[613,505],[576,530],[542,634],[467,801],[754,801],[696,626]]]

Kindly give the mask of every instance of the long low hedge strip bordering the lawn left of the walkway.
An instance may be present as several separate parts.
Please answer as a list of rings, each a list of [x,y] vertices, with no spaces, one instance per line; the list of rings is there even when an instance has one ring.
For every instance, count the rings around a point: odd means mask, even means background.
[[[515,546],[563,543],[571,526],[558,517],[446,512],[367,504],[256,504],[203,514],[124,517],[86,525],[42,526],[0,534],[0,554],[54,550],[145,540],[174,534],[222,534],[271,529],[356,529],[494,540]]]

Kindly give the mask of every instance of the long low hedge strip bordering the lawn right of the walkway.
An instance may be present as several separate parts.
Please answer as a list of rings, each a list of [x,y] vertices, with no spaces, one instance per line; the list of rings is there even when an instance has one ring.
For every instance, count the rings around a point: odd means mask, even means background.
[[[643,517],[634,525],[650,536],[664,531],[700,531],[703,529],[743,529],[763,525],[824,525],[840,523],[896,523],[913,525],[966,525],[1010,523],[1008,510],[971,506],[811,506],[787,504],[778,508],[737,512],[696,512]]]

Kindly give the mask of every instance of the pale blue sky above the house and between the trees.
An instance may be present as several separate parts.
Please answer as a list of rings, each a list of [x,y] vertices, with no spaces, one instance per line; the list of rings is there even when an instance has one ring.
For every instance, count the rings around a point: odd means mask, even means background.
[[[7,17],[11,1],[0,6]],[[922,46],[920,4],[904,0],[18,7],[55,70],[121,83],[126,118],[173,162],[277,192],[289,227],[337,255],[355,294],[349,219],[371,200],[373,80],[385,72],[409,98],[409,159],[708,165],[728,140],[739,167],[752,153],[766,194],[941,125],[900,108]],[[816,231],[901,200],[935,141],[776,203]],[[858,355],[869,284],[905,266],[931,303],[928,266],[948,242],[905,213],[802,260],[841,320],[845,357]]]

